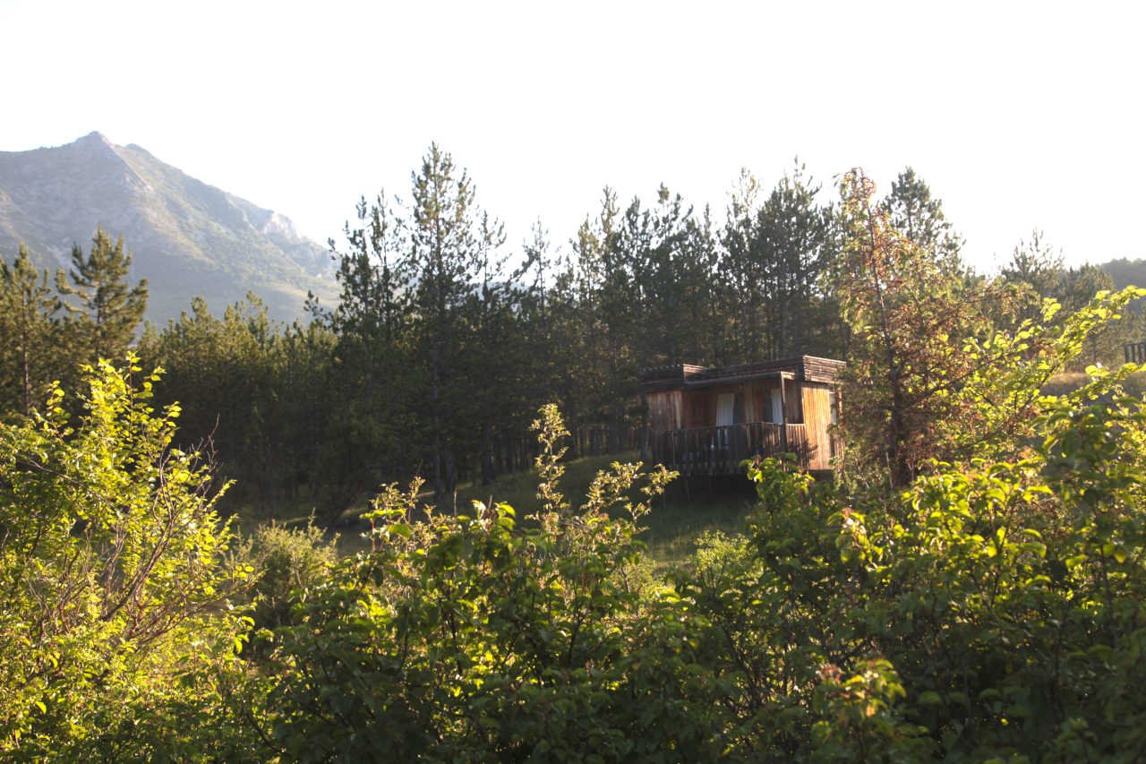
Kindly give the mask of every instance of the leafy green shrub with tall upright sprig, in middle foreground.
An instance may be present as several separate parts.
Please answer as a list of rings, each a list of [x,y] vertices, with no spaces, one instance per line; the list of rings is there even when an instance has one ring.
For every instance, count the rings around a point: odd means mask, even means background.
[[[573,512],[556,410],[537,427],[535,514],[476,502],[414,522],[418,485],[392,486],[367,514],[372,551],[300,598],[272,656],[286,758],[720,755],[691,618],[678,598],[643,601],[633,577],[636,520],[668,475],[643,476],[646,500],[629,502],[637,467],[614,465]]]

